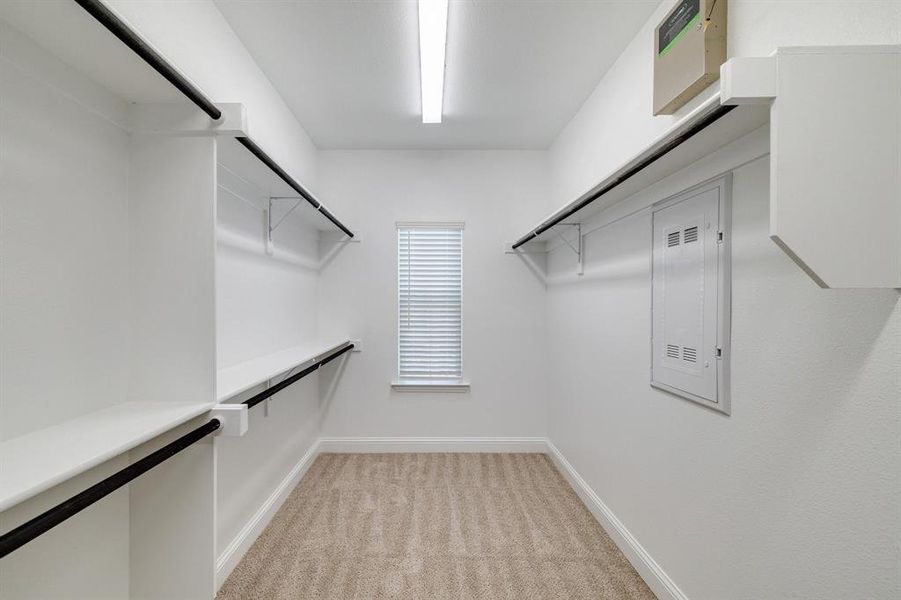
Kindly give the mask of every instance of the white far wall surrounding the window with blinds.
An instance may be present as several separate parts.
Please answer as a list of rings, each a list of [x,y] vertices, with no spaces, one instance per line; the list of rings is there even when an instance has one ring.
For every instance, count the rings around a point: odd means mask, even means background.
[[[363,341],[338,380],[326,436],[545,433],[544,284],[503,254],[544,202],[542,152],[329,151],[324,193],[352,215],[360,244],[323,271],[321,327]],[[397,221],[465,221],[467,394],[392,392],[397,370]]]

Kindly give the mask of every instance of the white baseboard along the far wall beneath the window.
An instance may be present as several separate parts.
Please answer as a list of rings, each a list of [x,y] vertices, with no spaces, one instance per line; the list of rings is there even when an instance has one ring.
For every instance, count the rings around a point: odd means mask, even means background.
[[[527,437],[331,437],[319,438],[319,452],[547,452],[545,438]]]

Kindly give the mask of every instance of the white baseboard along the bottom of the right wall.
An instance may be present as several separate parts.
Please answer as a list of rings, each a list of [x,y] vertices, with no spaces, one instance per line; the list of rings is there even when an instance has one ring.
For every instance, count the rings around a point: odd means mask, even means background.
[[[644,579],[651,591],[657,595],[660,600],[688,600],[688,597],[682,593],[679,586],[670,579],[669,575],[657,564],[657,562],[648,554],[648,551],[638,543],[638,540],[626,529],[622,521],[616,518],[613,511],[604,504],[601,498],[595,493],[591,486],[588,485],[582,476],[573,468],[566,457],[560,450],[547,440],[547,454],[557,465],[560,473],[566,477],[569,484],[598,520],[601,526],[607,531],[607,534],[613,539],[616,545],[622,550],[622,553],[629,559],[641,578]]]

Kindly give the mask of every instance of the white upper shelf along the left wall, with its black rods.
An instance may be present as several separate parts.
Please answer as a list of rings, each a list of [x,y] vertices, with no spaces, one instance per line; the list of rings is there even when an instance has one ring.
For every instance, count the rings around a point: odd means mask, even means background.
[[[290,201],[297,200],[305,210],[296,212],[314,228],[354,237],[322,202],[247,136],[240,104],[214,104],[100,0],[3,0],[0,18],[131,104],[127,114],[113,111],[116,114],[106,115],[124,128],[219,134],[224,140],[220,144],[221,164],[270,197],[286,200],[277,202],[271,211],[280,211],[275,222],[288,211],[295,211],[297,206]]]

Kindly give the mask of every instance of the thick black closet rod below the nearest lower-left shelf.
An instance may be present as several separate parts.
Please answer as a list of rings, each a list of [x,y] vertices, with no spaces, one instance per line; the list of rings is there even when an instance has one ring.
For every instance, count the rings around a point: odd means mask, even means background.
[[[81,512],[101,498],[115,492],[123,485],[126,485],[133,479],[146,473],[158,464],[172,458],[191,444],[219,429],[219,426],[219,419],[212,419],[205,425],[201,425],[197,429],[189,431],[174,442],[170,442],[159,450],[148,454],[138,462],[125,467],[103,481],[92,485],[85,491],[57,504],[50,510],[36,516],[27,523],[19,525],[9,533],[3,534],[0,536],[0,558],[21,548],[39,535],[53,529],[69,517]]]

